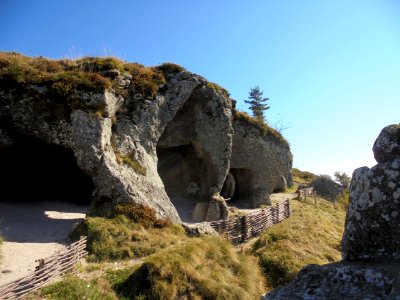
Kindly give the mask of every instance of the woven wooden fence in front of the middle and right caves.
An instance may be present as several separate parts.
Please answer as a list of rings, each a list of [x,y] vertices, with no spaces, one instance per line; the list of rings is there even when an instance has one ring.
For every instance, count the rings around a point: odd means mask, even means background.
[[[226,236],[232,243],[243,243],[249,238],[259,235],[266,228],[271,227],[290,217],[290,202],[285,200],[268,208],[232,220],[210,222],[221,235]]]

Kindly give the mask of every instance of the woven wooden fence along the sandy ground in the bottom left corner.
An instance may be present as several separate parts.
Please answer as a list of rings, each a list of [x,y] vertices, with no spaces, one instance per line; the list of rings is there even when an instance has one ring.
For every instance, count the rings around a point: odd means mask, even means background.
[[[65,251],[39,259],[39,265],[33,273],[0,287],[0,300],[19,299],[71,271],[79,259],[87,254],[85,249],[86,237],[81,237],[79,241],[69,245]]]

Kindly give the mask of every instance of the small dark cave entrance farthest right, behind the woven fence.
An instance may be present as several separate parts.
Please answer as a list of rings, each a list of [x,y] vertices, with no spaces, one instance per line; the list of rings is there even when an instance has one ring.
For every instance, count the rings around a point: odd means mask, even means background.
[[[252,196],[252,176],[248,169],[231,168],[221,190],[221,196],[229,206],[238,208],[250,208]]]

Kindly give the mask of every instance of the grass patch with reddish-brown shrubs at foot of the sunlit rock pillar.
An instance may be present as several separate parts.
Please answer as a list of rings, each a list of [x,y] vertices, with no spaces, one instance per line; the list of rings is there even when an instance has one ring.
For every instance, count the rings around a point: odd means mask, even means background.
[[[148,256],[186,240],[184,229],[158,219],[152,208],[121,203],[105,217],[87,217],[72,236],[88,237],[90,261]]]

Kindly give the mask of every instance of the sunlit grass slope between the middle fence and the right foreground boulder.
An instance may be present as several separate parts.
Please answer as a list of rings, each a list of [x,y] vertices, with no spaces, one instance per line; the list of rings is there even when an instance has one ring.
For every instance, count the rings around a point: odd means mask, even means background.
[[[317,205],[291,201],[292,216],[267,229],[252,252],[260,259],[269,288],[293,280],[308,264],[341,260],[345,209],[318,198]]]

